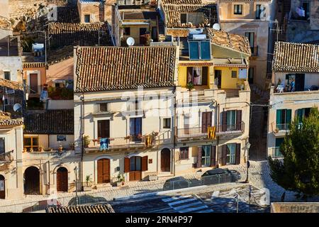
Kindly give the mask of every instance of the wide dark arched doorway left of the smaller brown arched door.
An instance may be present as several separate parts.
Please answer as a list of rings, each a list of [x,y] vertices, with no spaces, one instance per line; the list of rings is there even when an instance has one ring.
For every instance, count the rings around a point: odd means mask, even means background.
[[[24,172],[24,194],[40,194],[40,172],[30,166]]]

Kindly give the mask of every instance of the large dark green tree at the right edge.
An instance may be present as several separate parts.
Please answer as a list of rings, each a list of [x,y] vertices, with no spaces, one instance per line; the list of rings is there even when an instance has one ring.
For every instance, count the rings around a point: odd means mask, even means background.
[[[295,118],[280,146],[284,160],[269,157],[271,177],[286,190],[297,192],[296,196],[319,195],[319,111],[310,110],[301,123]]]

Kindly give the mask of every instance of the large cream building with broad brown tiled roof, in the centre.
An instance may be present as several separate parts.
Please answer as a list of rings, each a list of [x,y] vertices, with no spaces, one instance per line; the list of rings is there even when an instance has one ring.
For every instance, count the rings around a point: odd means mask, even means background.
[[[74,49],[74,141],[82,182],[171,175],[178,52],[164,47]],[[90,72],[88,74],[87,72]]]

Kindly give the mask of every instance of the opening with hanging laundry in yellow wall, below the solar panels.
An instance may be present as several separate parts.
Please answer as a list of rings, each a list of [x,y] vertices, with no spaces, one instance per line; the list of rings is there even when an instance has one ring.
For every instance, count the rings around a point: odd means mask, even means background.
[[[187,83],[194,85],[208,84],[208,67],[187,67]]]

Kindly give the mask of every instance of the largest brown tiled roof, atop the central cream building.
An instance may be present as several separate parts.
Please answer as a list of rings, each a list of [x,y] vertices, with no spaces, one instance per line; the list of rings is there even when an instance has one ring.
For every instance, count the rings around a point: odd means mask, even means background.
[[[177,48],[78,47],[76,92],[174,85]]]

